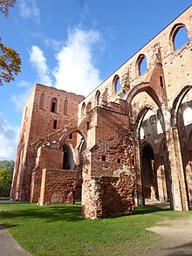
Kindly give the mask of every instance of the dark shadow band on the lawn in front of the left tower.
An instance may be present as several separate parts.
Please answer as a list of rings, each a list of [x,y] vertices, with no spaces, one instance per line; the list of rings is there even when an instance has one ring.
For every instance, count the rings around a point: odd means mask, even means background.
[[[18,205],[18,204],[17,204]],[[29,209],[26,207],[23,209],[11,209],[10,211],[0,212],[0,222],[1,218],[44,218],[46,222],[52,221],[80,221],[84,218],[80,215],[81,207],[80,205],[51,205],[40,207],[33,204],[33,207]]]

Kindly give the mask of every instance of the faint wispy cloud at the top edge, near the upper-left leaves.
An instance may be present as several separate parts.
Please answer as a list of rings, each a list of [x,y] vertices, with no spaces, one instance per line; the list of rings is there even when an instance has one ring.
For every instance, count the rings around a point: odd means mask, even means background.
[[[20,14],[24,18],[33,18],[35,21],[40,20],[40,10],[37,7],[35,0],[19,0],[18,6]]]

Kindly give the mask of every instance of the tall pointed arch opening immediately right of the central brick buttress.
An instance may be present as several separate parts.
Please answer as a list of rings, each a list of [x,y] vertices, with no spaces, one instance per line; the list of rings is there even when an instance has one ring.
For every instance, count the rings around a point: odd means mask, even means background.
[[[142,99],[142,100],[141,100]],[[137,86],[127,95],[134,123],[137,192],[145,199],[168,200],[165,156],[161,156],[161,141],[165,141],[161,101],[148,85]]]

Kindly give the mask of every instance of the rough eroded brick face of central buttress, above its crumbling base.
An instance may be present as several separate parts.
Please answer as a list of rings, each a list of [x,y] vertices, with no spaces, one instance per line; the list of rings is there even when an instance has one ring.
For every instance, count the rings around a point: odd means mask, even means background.
[[[91,152],[92,176],[134,173],[134,135],[126,126],[119,126],[115,137],[100,141]]]

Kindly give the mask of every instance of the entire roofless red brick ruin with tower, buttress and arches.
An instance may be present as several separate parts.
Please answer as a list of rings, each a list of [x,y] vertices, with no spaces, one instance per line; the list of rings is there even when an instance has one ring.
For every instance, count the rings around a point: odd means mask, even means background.
[[[177,45],[178,38],[186,38]],[[10,196],[120,216],[146,199],[192,203],[192,6],[86,98],[36,84]]]

